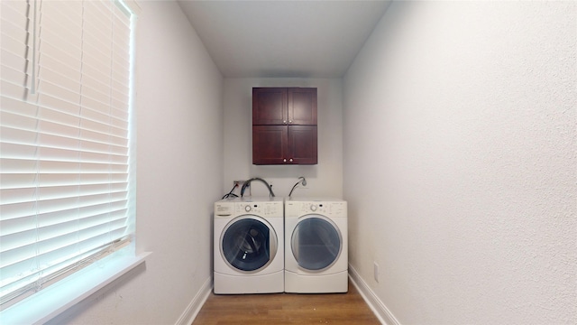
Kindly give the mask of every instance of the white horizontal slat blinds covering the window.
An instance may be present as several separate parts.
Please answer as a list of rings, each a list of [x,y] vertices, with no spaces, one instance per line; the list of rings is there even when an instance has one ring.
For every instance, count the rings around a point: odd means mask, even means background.
[[[132,237],[131,14],[110,0],[29,0],[0,1],[0,16],[5,303]]]

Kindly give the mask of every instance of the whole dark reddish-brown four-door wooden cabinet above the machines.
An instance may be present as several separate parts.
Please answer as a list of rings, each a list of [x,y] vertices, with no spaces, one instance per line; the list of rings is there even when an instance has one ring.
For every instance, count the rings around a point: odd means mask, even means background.
[[[252,88],[252,163],[316,164],[316,88]]]

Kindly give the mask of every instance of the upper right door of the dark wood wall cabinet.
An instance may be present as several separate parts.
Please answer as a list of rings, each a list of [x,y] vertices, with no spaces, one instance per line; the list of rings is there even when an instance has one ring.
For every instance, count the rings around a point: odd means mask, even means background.
[[[288,88],[289,125],[316,125],[316,88]]]

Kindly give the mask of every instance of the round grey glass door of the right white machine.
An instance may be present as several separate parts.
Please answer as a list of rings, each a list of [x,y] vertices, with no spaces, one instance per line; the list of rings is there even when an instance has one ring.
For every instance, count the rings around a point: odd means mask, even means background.
[[[291,249],[298,266],[320,272],[338,260],[343,237],[331,219],[307,215],[300,218],[293,230]]]

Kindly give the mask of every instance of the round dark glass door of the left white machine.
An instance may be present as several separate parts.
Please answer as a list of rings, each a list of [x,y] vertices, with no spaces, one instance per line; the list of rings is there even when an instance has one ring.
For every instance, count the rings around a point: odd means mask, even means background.
[[[277,254],[274,228],[263,218],[245,215],[226,225],[220,238],[224,261],[237,271],[258,272]]]

